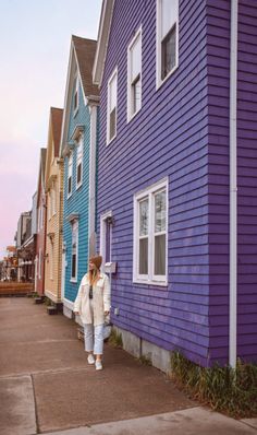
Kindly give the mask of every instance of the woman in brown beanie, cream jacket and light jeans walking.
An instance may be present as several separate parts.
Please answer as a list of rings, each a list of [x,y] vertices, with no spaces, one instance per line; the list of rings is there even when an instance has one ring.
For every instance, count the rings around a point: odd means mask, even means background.
[[[74,314],[79,315],[84,324],[87,362],[96,364],[97,371],[102,369],[105,316],[110,313],[110,282],[100,272],[101,261],[101,256],[89,258],[88,273],[83,277],[74,302]]]

